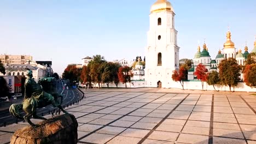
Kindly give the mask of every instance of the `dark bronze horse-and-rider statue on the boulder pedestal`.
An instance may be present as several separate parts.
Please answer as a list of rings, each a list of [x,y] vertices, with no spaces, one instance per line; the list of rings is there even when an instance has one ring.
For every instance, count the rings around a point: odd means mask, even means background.
[[[32,71],[27,69],[28,79],[25,81],[25,96],[22,104],[12,104],[9,108],[11,116],[25,119],[30,125],[35,126],[36,124],[30,121],[31,116],[36,119],[46,119],[37,115],[37,108],[42,108],[47,105],[53,104],[54,107],[59,107],[63,110],[62,95],[57,93],[54,88],[54,77],[47,77],[39,80],[38,83],[32,79]],[[40,85],[42,85],[42,87]],[[60,100],[59,100],[60,99]],[[22,117],[20,110],[24,110],[26,115]]]

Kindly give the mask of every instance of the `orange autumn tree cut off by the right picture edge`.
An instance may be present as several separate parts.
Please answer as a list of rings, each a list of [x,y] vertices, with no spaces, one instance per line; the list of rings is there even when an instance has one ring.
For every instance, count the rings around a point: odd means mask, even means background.
[[[243,81],[249,87],[256,87],[256,63],[246,65],[243,73]]]

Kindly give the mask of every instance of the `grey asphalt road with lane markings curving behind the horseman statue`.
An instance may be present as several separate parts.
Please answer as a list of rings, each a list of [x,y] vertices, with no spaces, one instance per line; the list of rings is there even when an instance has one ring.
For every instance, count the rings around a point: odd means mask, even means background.
[[[67,106],[70,104],[73,105],[73,103],[75,103],[75,101],[78,101],[79,99],[81,99],[83,97],[83,94],[81,92],[79,92],[79,90],[77,88],[65,88],[63,90],[63,83],[62,82],[58,82],[56,85],[56,91],[58,93],[61,93],[63,95],[63,102],[62,102],[62,106]],[[22,99],[23,98],[19,98],[18,101],[20,101],[20,103],[22,103]],[[53,110],[57,110],[56,107],[53,107],[53,105],[48,105],[46,107],[37,109],[37,115],[38,116],[42,116],[42,115],[48,115],[49,111],[51,113],[51,111]],[[21,115],[25,115],[24,111],[20,111]],[[20,119],[18,119],[18,121],[22,121]],[[12,123],[16,123],[17,122],[17,118],[13,118],[10,116],[9,113],[9,109],[7,110],[3,110],[0,111],[0,127],[4,126],[4,123],[7,124],[12,124]]]

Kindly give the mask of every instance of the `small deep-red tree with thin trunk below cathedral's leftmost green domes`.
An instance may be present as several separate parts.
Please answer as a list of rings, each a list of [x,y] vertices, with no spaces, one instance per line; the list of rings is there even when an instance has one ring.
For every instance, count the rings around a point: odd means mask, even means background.
[[[202,89],[203,89],[203,83],[207,81],[207,71],[208,70],[206,69],[205,65],[202,65],[202,63],[200,63],[196,67],[195,75],[197,79],[202,82]]]

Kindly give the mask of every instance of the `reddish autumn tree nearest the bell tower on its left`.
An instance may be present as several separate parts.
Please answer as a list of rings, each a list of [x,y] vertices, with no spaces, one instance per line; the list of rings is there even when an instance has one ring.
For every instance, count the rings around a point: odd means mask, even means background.
[[[131,72],[130,67],[125,66],[125,67],[119,68],[118,78],[119,78],[120,82],[125,83],[125,88],[127,88],[126,82],[131,82],[132,76],[133,76],[133,74]]]

